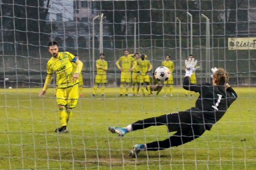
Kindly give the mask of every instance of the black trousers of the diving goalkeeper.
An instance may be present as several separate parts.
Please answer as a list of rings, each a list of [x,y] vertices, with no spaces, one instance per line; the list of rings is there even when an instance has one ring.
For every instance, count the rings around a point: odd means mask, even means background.
[[[133,131],[160,125],[166,125],[169,132],[176,131],[176,133],[170,136],[169,139],[147,143],[147,150],[163,150],[169,147],[179,146],[198,138],[205,131],[203,122],[192,118],[190,113],[185,112],[151,117],[131,124]]]

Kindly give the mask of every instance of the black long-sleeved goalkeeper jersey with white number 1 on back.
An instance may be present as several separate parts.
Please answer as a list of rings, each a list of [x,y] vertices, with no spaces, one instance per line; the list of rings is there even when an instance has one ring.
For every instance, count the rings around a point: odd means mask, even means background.
[[[212,125],[221,119],[237,98],[236,92],[231,87],[225,90],[225,86],[209,83],[190,84],[189,77],[184,78],[183,88],[200,94],[195,102],[195,108],[190,108],[185,112],[204,123],[207,130],[210,130]]]

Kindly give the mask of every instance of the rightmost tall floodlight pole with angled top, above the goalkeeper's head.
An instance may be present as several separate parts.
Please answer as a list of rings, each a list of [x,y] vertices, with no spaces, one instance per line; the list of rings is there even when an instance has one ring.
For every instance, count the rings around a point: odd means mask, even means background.
[[[210,48],[210,20],[209,20],[209,18],[207,17],[207,16],[205,16],[204,14],[201,14],[201,16],[202,17],[204,17],[205,19],[206,19],[206,35],[205,35],[205,37],[206,37],[206,45],[205,45],[205,48],[206,48],[206,51],[205,51],[205,54],[206,54],[206,77],[205,77],[205,81],[206,82],[209,82],[208,80],[210,79],[209,77],[208,77],[208,71],[209,71],[209,69],[210,69],[210,50],[209,50],[209,48]]]

